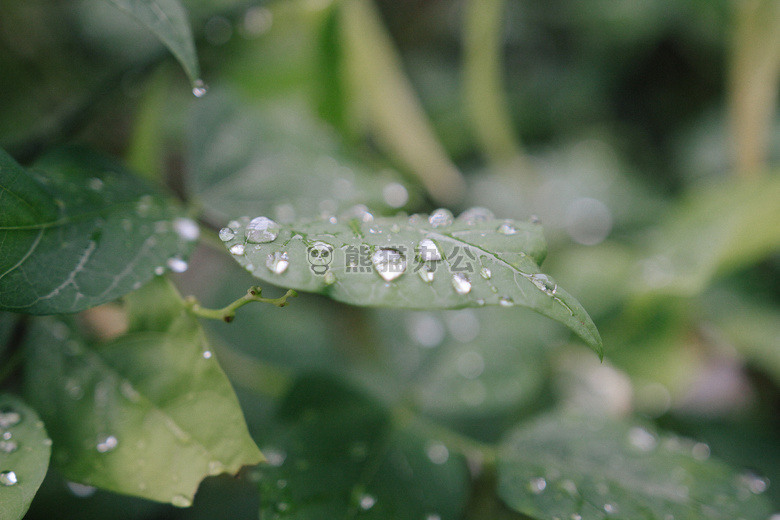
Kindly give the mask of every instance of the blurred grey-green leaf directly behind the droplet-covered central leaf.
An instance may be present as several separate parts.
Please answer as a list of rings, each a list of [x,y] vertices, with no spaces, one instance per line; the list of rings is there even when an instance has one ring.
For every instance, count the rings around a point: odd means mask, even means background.
[[[190,128],[190,191],[219,219],[285,222],[357,203],[400,208],[410,198],[397,173],[345,159],[332,130],[296,103],[247,106],[213,89]]]

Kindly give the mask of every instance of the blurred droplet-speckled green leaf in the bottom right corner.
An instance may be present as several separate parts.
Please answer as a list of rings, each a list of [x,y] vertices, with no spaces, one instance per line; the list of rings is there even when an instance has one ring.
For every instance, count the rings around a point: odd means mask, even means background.
[[[606,418],[553,414],[501,447],[499,494],[536,518],[766,520],[767,482],[709,447]],[[579,515],[579,516],[578,516]]]

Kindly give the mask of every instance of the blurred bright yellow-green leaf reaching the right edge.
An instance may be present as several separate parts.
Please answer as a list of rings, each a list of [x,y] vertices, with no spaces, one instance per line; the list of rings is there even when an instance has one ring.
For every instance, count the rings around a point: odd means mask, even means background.
[[[691,296],[717,275],[780,249],[780,176],[729,179],[693,191],[650,244],[635,291]]]

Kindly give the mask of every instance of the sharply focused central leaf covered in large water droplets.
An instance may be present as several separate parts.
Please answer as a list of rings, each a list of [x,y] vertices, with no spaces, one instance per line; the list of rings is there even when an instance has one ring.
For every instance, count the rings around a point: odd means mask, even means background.
[[[480,208],[457,220],[447,210],[429,218],[375,219],[356,207],[340,220],[285,226],[242,217],[220,235],[241,265],[275,285],[365,306],[528,307],[563,323],[602,354],[599,333],[582,306],[539,271],[546,244],[535,223],[497,220]]]

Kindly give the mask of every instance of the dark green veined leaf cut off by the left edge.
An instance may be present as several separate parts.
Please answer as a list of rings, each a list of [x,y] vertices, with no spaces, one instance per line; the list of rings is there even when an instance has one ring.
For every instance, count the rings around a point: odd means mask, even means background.
[[[42,170],[44,173],[38,171]],[[63,149],[24,170],[0,150],[0,309],[77,312],[186,268],[197,224],[121,165]]]

